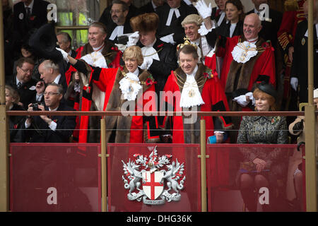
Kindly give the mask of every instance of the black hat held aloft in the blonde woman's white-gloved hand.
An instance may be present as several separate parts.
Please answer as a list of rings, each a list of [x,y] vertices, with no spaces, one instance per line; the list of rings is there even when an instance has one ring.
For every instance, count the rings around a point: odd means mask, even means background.
[[[56,47],[57,35],[55,34],[54,23],[47,23],[37,29],[29,40],[29,45],[38,57],[51,59],[54,63],[61,61],[63,56]]]

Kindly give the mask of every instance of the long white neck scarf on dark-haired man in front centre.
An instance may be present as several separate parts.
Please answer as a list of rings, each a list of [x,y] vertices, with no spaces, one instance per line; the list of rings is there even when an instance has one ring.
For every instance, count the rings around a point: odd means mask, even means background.
[[[180,107],[194,107],[204,105],[204,100],[201,97],[201,93],[198,88],[198,84],[196,84],[196,79],[194,76],[196,75],[196,71],[198,71],[198,66],[194,68],[194,71],[191,75],[187,74],[187,80],[185,81],[181,93],[180,98]]]

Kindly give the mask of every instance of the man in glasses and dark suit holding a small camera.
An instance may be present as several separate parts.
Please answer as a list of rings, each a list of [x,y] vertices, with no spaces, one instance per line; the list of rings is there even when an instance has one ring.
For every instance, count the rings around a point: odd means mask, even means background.
[[[38,105],[40,111],[73,111],[61,100],[63,98],[63,88],[61,85],[50,83],[45,89],[45,106]],[[34,111],[34,106],[30,104],[28,111]],[[67,143],[76,126],[75,116],[52,116],[40,115],[28,117],[25,120],[25,133],[29,142],[33,143]]]

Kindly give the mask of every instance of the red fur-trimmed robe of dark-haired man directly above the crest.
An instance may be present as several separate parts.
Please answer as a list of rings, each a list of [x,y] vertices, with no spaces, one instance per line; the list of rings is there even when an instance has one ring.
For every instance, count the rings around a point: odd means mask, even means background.
[[[230,110],[224,90],[218,81],[218,77],[213,76],[211,69],[208,69],[208,67],[204,66],[203,64],[199,64],[199,69],[196,72],[195,79],[198,85],[204,84],[199,87],[199,91],[205,104],[199,106],[198,111],[225,112]],[[167,79],[167,83],[165,84],[164,101],[167,102],[168,107],[173,106],[173,110],[175,112],[182,111],[181,107],[179,107],[179,98],[181,97],[183,85],[179,86],[178,84],[184,84],[184,81],[186,80],[187,75],[179,68],[175,71],[172,71]],[[171,93],[169,91],[175,95],[175,98],[171,98]],[[172,143],[199,143],[200,131],[198,131],[198,129],[200,127],[200,118],[196,119],[193,124],[184,123],[184,119],[185,117],[182,116],[173,117]],[[204,119],[206,120],[206,137],[213,136],[213,117],[204,117]],[[218,117],[218,119],[220,119],[220,124],[223,127],[222,129],[230,129],[232,126],[232,123],[228,117]],[[164,124],[167,123],[167,120],[168,119],[166,117]],[[191,131],[192,129],[195,131]]]

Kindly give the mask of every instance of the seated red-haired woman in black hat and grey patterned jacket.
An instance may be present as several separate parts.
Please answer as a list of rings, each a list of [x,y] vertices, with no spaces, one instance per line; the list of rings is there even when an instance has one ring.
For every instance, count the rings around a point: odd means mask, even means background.
[[[257,112],[275,111],[276,90],[268,83],[261,83],[253,92]],[[288,143],[285,117],[242,117],[237,143],[283,144]],[[276,207],[278,180],[283,179],[287,169],[287,155],[276,148],[240,148],[242,162],[237,174],[242,198],[249,211],[257,210],[259,189],[269,189],[269,204],[263,210]]]

